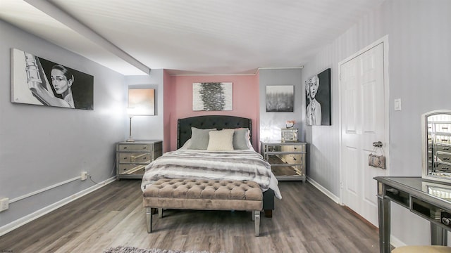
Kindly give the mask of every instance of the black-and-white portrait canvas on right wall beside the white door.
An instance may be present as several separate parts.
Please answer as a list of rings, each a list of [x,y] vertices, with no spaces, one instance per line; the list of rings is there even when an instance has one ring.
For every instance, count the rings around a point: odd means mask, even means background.
[[[330,68],[305,81],[307,126],[330,126]]]

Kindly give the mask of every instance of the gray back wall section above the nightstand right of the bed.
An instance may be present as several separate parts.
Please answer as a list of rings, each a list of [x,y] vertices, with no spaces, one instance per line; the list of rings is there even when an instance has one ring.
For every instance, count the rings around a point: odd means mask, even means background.
[[[295,120],[295,128],[299,129],[299,140],[302,136],[302,100],[304,100],[304,86],[302,85],[300,68],[274,68],[259,70],[260,86],[260,141],[280,141],[280,129],[285,128],[287,120]],[[295,90],[295,108],[293,112],[266,112],[266,86],[292,85]]]

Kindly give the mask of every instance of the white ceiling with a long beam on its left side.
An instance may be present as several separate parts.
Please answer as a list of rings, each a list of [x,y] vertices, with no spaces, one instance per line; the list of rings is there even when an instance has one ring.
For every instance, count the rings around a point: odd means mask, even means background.
[[[122,74],[254,74],[304,65],[382,2],[0,0],[0,19]]]

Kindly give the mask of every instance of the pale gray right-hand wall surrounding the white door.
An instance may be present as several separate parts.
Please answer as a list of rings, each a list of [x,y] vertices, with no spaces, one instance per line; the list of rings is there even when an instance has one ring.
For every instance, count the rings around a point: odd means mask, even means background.
[[[388,34],[390,175],[421,176],[421,114],[451,108],[451,1],[386,0],[307,63],[305,78],[330,67],[332,126],[306,126],[311,143],[308,176],[340,195],[338,63]],[[402,99],[402,111],[393,100]],[[376,186],[376,184],[375,184]],[[392,236],[408,245],[428,244],[429,226],[392,205]]]

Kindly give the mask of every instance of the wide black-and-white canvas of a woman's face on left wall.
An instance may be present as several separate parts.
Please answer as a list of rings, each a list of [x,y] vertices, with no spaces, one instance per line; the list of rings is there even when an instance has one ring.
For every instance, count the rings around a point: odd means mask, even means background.
[[[11,102],[94,110],[94,77],[12,48]]]

